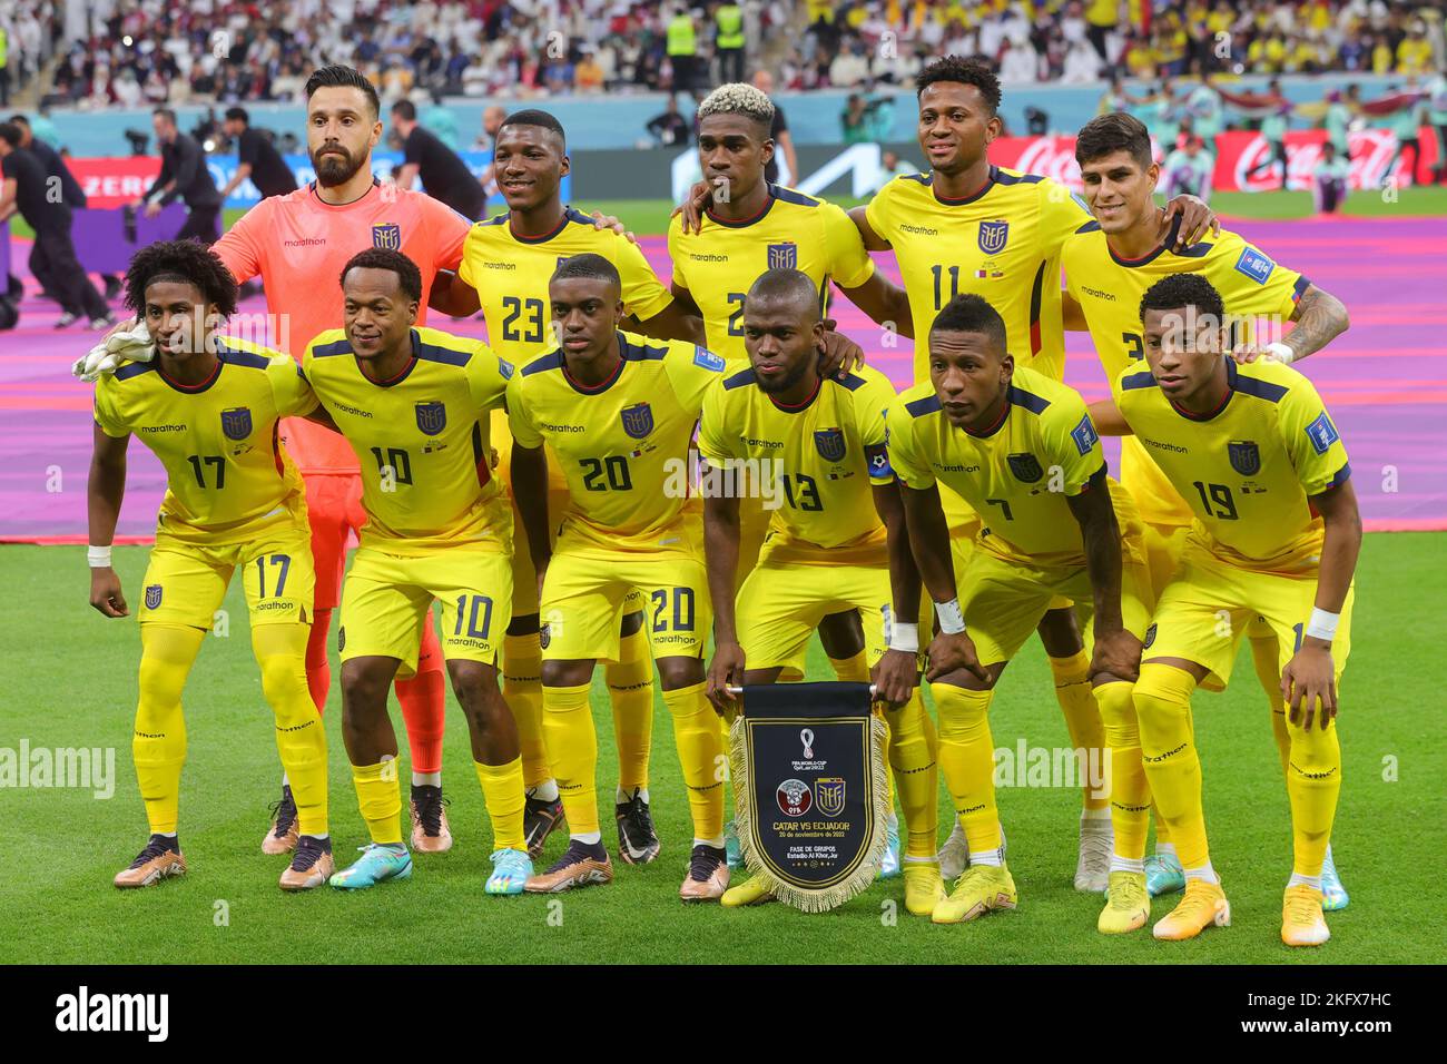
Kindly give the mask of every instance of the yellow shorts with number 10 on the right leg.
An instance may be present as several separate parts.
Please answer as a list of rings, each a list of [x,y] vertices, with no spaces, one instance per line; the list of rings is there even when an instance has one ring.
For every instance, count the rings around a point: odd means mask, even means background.
[[[411,676],[433,599],[443,657],[495,666],[512,620],[512,559],[456,547],[415,557],[359,547],[341,585],[341,660],[395,657]]]

